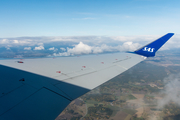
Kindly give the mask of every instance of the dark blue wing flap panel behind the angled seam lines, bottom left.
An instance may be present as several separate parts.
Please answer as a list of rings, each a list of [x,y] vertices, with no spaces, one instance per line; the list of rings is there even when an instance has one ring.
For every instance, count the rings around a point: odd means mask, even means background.
[[[11,99],[12,100],[12,99]],[[70,103],[66,98],[46,88],[0,115],[1,120],[53,120]]]

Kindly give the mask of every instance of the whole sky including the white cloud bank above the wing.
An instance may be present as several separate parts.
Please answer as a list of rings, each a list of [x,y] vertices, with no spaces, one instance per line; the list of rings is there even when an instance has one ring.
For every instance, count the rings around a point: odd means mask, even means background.
[[[161,50],[180,48],[179,5],[179,0],[0,0],[0,53],[133,51],[169,32],[175,35]]]

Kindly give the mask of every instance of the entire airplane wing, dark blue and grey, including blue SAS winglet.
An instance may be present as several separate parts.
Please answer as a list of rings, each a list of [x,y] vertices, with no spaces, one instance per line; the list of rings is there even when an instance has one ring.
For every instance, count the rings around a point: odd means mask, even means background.
[[[51,120],[74,99],[152,57],[174,34],[132,52],[0,60],[0,120]]]

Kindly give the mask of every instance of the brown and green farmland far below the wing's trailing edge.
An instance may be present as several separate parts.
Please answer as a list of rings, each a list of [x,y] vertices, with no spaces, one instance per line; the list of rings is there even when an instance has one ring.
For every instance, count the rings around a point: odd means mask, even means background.
[[[155,58],[139,63],[81,96],[83,103],[79,109],[77,109],[79,105],[74,105],[76,107],[69,105],[60,116],[66,115],[67,120],[80,119],[78,116],[81,116],[82,120],[173,120],[178,118],[179,103],[169,102],[160,107],[161,101],[164,101],[167,96],[168,82],[167,80],[165,82],[165,79],[180,73],[180,62],[178,62],[180,55],[177,56],[176,52],[167,52],[167,57],[164,57],[165,53],[160,53]],[[177,91],[180,90],[177,88]],[[77,110],[78,115],[70,115],[67,109]]]

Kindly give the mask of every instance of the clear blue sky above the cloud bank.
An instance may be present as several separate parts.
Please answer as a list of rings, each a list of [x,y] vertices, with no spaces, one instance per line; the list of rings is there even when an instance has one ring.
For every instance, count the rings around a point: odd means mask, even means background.
[[[0,0],[0,38],[180,33],[179,0]]]

